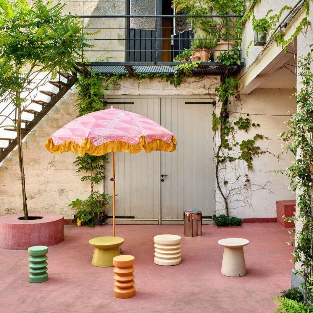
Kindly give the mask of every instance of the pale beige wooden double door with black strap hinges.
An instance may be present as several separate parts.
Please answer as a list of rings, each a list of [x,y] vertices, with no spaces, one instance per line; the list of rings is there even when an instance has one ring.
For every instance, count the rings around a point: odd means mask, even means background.
[[[158,122],[177,139],[174,152],[115,153],[116,223],[180,224],[183,211],[189,208],[200,209],[204,217],[212,217],[213,106],[207,103],[209,99],[127,97],[107,101],[108,107],[113,105]],[[111,171],[109,163],[109,193]],[[112,215],[111,206],[108,215]]]

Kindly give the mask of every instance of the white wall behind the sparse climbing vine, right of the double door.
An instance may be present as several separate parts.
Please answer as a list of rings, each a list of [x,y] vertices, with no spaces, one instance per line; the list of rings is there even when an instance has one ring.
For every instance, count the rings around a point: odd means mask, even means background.
[[[262,134],[269,139],[256,141],[256,145],[270,153],[265,153],[253,161],[253,170],[249,172],[250,188],[246,188],[241,193],[237,193],[229,200],[230,215],[240,218],[275,218],[277,200],[293,200],[295,195],[289,192],[287,178],[284,174],[276,174],[275,170],[282,169],[285,172],[286,167],[294,160],[292,153],[283,155],[278,162],[277,157],[281,153],[283,140],[278,136],[287,130],[284,121],[288,119],[289,112],[295,111],[295,99],[291,98],[293,90],[291,89],[255,89],[249,95],[241,95],[242,106],[238,106],[236,111],[241,108],[243,118],[249,114],[251,123],[259,123],[260,127],[251,129],[248,133],[239,131],[237,140],[252,139],[255,134]],[[235,111],[234,101],[228,110]],[[237,103],[237,102],[236,102]],[[230,119],[232,115],[230,115]],[[238,118],[238,115],[237,115]],[[240,168],[246,169],[246,165],[240,162]],[[238,167],[238,166],[236,166]],[[226,172],[232,173],[229,165]],[[244,174],[240,177],[244,180]],[[228,186],[234,182],[237,177],[233,174],[228,175]],[[239,179],[239,180],[240,180]],[[223,182],[222,182],[223,185]],[[237,187],[233,183],[233,189]],[[264,188],[262,188],[262,186]],[[217,192],[217,215],[225,213],[223,199]]]

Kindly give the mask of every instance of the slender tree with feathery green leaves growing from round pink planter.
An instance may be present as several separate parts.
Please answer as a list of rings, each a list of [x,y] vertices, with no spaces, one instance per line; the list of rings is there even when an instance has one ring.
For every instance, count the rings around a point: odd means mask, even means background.
[[[0,0],[0,103],[10,100],[18,111],[14,126],[26,220],[21,115],[27,106],[27,91],[33,88],[33,74],[50,72],[55,79],[58,70],[75,71],[82,49],[90,47],[80,18],[64,14],[64,8],[65,4],[53,1]]]

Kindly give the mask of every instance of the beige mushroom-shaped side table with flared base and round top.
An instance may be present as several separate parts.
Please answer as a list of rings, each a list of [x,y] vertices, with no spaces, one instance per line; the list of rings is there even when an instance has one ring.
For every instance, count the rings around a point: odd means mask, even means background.
[[[244,260],[244,246],[249,240],[243,238],[226,238],[218,240],[224,247],[221,273],[225,276],[240,277],[247,274]]]

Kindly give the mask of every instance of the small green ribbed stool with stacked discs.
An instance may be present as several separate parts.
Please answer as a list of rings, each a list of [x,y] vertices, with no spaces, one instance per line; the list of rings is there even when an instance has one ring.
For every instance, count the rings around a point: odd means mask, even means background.
[[[30,273],[28,275],[28,281],[30,283],[42,283],[48,280],[47,265],[46,260],[48,257],[46,254],[48,253],[48,247],[46,246],[33,246],[28,248],[28,254],[30,257],[28,264]]]

